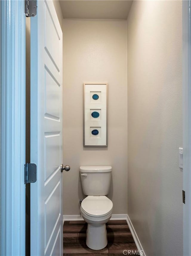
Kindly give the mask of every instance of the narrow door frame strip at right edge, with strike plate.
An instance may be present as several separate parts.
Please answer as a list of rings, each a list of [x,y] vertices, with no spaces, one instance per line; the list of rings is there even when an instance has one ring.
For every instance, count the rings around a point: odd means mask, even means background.
[[[191,1],[182,1],[183,89],[183,255],[191,255]]]

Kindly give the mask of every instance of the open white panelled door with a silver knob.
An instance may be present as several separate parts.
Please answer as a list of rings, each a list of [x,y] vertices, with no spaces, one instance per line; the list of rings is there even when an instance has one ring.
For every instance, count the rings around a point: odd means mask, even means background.
[[[31,18],[31,255],[63,254],[62,31],[53,1]]]

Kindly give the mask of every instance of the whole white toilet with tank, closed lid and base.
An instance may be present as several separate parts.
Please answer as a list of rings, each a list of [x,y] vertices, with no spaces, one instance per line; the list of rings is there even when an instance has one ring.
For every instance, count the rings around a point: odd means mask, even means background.
[[[110,191],[111,166],[80,166],[84,195],[81,215],[87,222],[86,244],[90,249],[101,250],[107,246],[106,223],[113,210],[112,201],[106,197]]]

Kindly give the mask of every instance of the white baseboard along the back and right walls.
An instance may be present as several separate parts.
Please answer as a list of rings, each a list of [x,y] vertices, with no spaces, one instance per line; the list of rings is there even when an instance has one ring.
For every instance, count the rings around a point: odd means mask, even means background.
[[[84,220],[81,215],[63,215],[63,223],[80,220]],[[113,214],[110,220],[126,220],[140,255],[146,256],[128,214]]]

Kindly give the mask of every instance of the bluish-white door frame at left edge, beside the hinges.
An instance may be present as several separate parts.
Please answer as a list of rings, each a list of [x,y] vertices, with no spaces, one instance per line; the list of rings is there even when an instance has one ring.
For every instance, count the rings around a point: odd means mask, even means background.
[[[1,255],[25,255],[25,11],[0,1]]]

